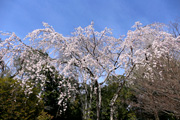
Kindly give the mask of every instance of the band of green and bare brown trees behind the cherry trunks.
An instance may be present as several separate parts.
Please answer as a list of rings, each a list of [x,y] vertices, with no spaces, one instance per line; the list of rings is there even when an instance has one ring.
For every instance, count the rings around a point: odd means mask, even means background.
[[[164,61],[161,61],[164,62]],[[168,65],[168,64],[166,64]],[[149,120],[159,116],[162,120],[176,120],[180,114],[180,62],[170,61],[170,68],[156,67],[163,69],[163,76],[166,80],[157,78],[154,82],[143,80],[140,71],[134,72],[138,76],[135,84],[128,84],[123,87],[115,103],[115,120]],[[172,68],[172,69],[171,69]],[[142,68],[144,70],[145,68]],[[168,71],[170,69],[170,71]],[[78,86],[79,92],[76,97],[68,100],[67,110],[63,111],[58,105],[60,90],[57,83],[47,74],[47,82],[44,90],[39,86],[34,86],[32,93],[26,94],[26,87],[22,87],[20,82],[11,78],[0,79],[0,119],[10,120],[81,120],[83,118],[83,100],[85,94],[82,86]],[[171,76],[171,78],[168,78]],[[123,77],[122,77],[123,78]],[[102,107],[100,118],[109,120],[110,106],[107,104],[113,97],[118,87],[118,82],[111,77],[106,85],[102,87]],[[30,80],[32,81],[32,80]],[[115,82],[116,81],[116,82]],[[123,79],[121,80],[123,81]],[[119,81],[120,82],[120,81]],[[29,85],[33,85],[29,82]],[[90,89],[90,86],[87,85]],[[63,89],[63,88],[62,88]],[[37,97],[42,92],[42,96]],[[89,96],[88,96],[89,98]],[[96,98],[93,98],[91,107],[91,118],[96,119]],[[156,113],[156,116],[155,116]],[[158,115],[157,115],[158,114]],[[155,116],[155,117],[154,117]]]

